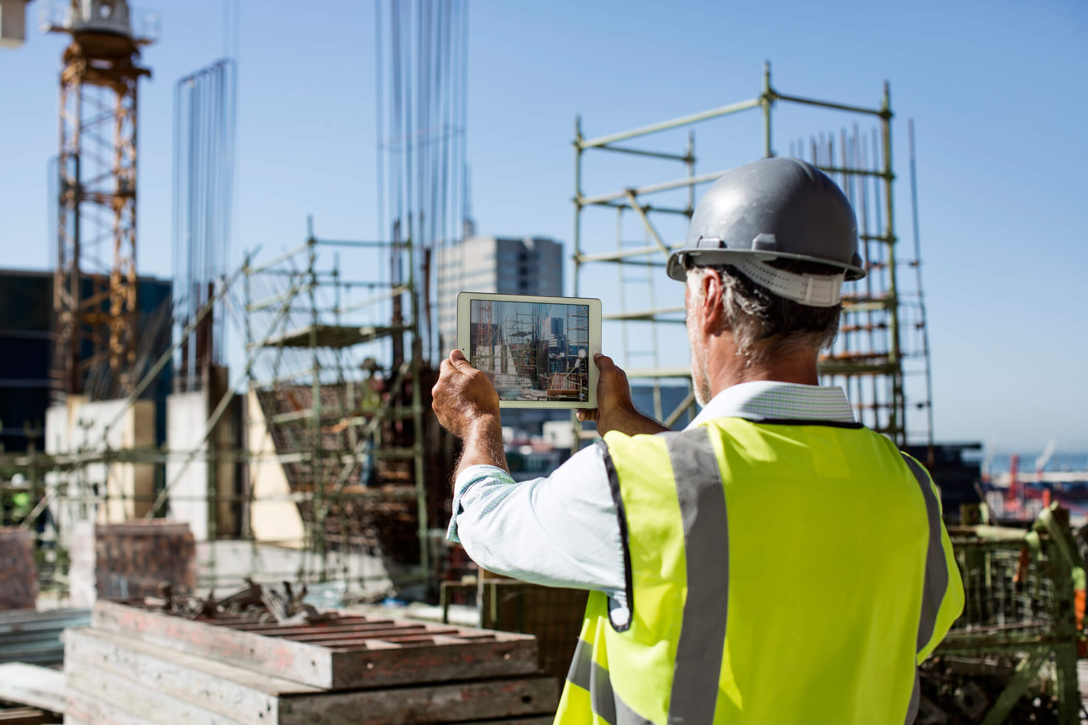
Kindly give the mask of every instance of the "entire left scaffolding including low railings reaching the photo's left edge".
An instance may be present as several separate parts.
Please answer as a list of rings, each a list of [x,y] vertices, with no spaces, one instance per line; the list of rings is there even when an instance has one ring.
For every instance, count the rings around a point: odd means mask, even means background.
[[[321,254],[330,250],[331,264]],[[347,279],[341,255],[353,253],[384,254],[395,263],[403,257],[408,278]],[[40,551],[49,559],[40,572],[44,589],[66,589],[74,521],[122,523],[133,511],[149,521],[187,521],[183,507],[207,507],[207,534],[197,537],[201,589],[235,586],[249,576],[364,589],[380,582],[386,593],[405,587],[419,597],[436,593],[441,532],[429,522],[448,514],[443,472],[453,470],[454,441],[429,412],[437,374],[422,360],[416,334],[412,254],[410,240],[319,239],[312,225],[304,243],[268,261],[255,263],[256,253],[248,254],[242,267],[214,280],[208,301],[129,397],[107,401],[110,417],[88,427],[78,449],[0,452],[0,492],[14,488],[37,502],[22,526],[41,529]],[[359,262],[349,260],[350,267],[374,268]],[[207,396],[209,413],[185,438],[190,445],[111,445],[112,432],[134,405],[149,402],[138,401],[140,393],[218,307],[240,328],[244,359],[235,363],[233,379],[174,396]],[[393,322],[397,307],[403,318]],[[228,423],[239,435],[220,435]],[[148,492],[119,493],[111,479],[138,466],[153,468],[159,484]],[[207,476],[206,490],[193,489],[194,471],[197,480]],[[260,490],[267,472],[285,483],[283,490]],[[3,483],[15,473],[26,483]],[[223,476],[233,476],[235,485],[224,489],[217,480]],[[429,480],[443,484],[428,487]],[[267,518],[258,532],[256,512],[270,504],[297,511],[301,535],[269,535]],[[36,526],[58,507],[74,516]],[[247,552],[248,563],[239,563]]]

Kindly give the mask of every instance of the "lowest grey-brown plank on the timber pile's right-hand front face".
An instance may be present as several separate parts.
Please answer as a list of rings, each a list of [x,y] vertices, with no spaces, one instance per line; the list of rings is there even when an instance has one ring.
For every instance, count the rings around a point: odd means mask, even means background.
[[[554,713],[554,677],[444,683],[384,690],[300,695],[281,699],[276,725],[411,725]],[[551,718],[548,718],[551,721]]]

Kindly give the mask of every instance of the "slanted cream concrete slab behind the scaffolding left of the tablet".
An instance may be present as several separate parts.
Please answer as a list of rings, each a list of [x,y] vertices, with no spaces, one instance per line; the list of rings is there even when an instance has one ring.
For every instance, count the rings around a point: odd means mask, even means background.
[[[298,504],[287,498],[290,486],[287,485],[283,466],[274,458],[272,435],[264,424],[264,413],[257,393],[252,390],[246,393],[246,417],[250,454],[248,485],[252,499],[249,524],[254,529],[254,538],[258,541],[300,547],[306,538],[302,516],[298,512]]]

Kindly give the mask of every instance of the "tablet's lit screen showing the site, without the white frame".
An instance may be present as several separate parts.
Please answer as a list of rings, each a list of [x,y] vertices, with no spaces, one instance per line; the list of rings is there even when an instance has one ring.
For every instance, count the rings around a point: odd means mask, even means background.
[[[473,299],[469,313],[470,362],[502,400],[589,401],[588,304]]]

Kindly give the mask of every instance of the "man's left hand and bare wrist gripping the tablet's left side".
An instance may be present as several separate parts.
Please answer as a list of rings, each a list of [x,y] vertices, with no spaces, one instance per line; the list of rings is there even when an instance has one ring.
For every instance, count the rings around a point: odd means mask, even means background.
[[[450,352],[440,371],[438,382],[431,388],[431,408],[442,427],[465,441],[455,477],[477,464],[509,471],[495,386],[469,364],[460,350]]]

